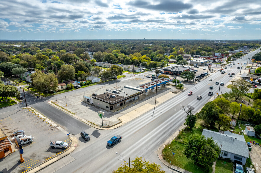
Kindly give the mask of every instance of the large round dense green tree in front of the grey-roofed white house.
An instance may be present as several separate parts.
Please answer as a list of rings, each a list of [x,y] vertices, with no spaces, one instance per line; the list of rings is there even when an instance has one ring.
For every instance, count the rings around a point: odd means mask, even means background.
[[[209,167],[212,167],[213,162],[218,159],[219,153],[218,144],[212,138],[197,135],[189,137],[184,151],[187,158],[204,167],[206,172],[209,172]]]

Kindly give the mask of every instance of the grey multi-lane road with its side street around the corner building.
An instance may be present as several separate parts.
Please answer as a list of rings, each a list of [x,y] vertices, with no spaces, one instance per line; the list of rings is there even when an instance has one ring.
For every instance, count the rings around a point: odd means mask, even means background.
[[[131,160],[136,157],[143,157],[150,162],[162,165],[157,156],[157,149],[184,123],[186,114],[180,109],[181,106],[189,104],[195,108],[195,112],[199,111],[211,98],[207,95],[210,91],[209,86],[214,86],[212,89],[214,95],[212,97],[216,97],[216,93],[219,91],[219,85],[215,85],[215,81],[224,82],[226,85],[232,79],[227,73],[234,72],[235,74],[239,74],[240,69],[236,69],[236,67],[239,66],[238,63],[241,67],[244,63],[247,63],[247,59],[253,55],[254,52],[251,52],[235,61],[236,65],[227,67],[225,70],[226,74],[221,74],[219,71],[213,74],[210,73],[209,78],[212,78],[212,81],[204,79],[194,85],[185,84],[187,91],[157,106],[153,116],[153,110],[150,110],[131,122],[113,130],[95,129],[50,106],[47,101],[55,97],[37,100],[30,95],[26,96],[28,105],[37,109],[46,117],[63,127],[67,132],[74,134],[77,138],[80,139],[79,133],[82,130],[93,134],[89,142],[79,141],[74,152],[62,158],[60,162],[55,162],[49,167],[46,167],[42,172],[111,172],[122,164],[123,159],[119,154],[121,154],[125,160],[129,157]],[[242,72],[243,68],[241,74]],[[118,83],[130,78],[134,78],[134,76],[128,76]],[[84,89],[87,90],[88,87]],[[188,96],[187,92],[189,91],[193,91],[193,95]],[[225,86],[220,86],[220,92],[221,91],[223,93],[229,91],[229,89]],[[75,90],[73,92],[82,91]],[[64,93],[64,95],[73,94],[73,92],[67,92]],[[64,95],[59,94],[57,98],[64,97]],[[201,95],[202,99],[197,100],[197,95]],[[108,147],[106,145],[108,139],[117,134],[122,136],[121,142],[118,142],[113,147]],[[119,154],[116,154],[116,152]],[[162,165],[162,167],[164,171],[172,172],[166,166]]]

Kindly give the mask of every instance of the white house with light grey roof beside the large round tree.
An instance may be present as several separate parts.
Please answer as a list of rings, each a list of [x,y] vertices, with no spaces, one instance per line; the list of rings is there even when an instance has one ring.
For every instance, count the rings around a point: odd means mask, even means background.
[[[212,130],[204,129],[202,135],[205,137],[212,137],[218,143],[221,149],[220,157],[230,158],[232,162],[238,160],[243,165],[246,164],[248,156],[248,147],[243,135],[234,134],[229,131],[224,133],[214,132]]]

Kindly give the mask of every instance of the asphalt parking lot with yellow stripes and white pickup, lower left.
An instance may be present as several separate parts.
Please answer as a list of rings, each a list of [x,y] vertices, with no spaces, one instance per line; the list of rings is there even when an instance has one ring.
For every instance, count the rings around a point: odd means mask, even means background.
[[[20,162],[20,154],[16,149],[15,143],[12,145],[13,154],[0,159],[1,172],[24,172],[48,159],[52,159],[56,154],[69,149],[71,141],[69,137],[59,130],[56,124],[47,122],[45,117],[39,115],[33,109],[15,109],[0,114],[0,128],[8,138],[12,139],[13,132],[24,130],[27,136],[34,137],[33,142],[24,144],[22,157],[24,162]],[[55,127],[56,126],[56,127]],[[51,149],[50,141],[61,140],[68,143],[67,149]],[[15,151],[15,152],[14,152]]]

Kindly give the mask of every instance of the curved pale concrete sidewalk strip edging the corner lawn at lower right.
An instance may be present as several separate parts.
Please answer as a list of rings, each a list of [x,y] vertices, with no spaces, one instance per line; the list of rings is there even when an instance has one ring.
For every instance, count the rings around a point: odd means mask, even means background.
[[[186,126],[184,124],[181,125],[181,127],[179,129],[184,129]],[[157,150],[157,155],[158,158],[160,159],[160,161],[169,169],[174,170],[176,172],[181,172],[181,173],[191,173],[185,169],[181,169],[180,167],[174,166],[169,164],[168,162],[166,162],[166,160],[163,159],[162,157],[162,150],[165,148],[166,145],[168,145],[169,143],[171,143],[171,141],[173,139],[175,139],[179,134],[179,131],[174,132],[174,134],[171,135],[171,137],[169,137],[163,144],[161,144],[161,146],[158,148]]]

